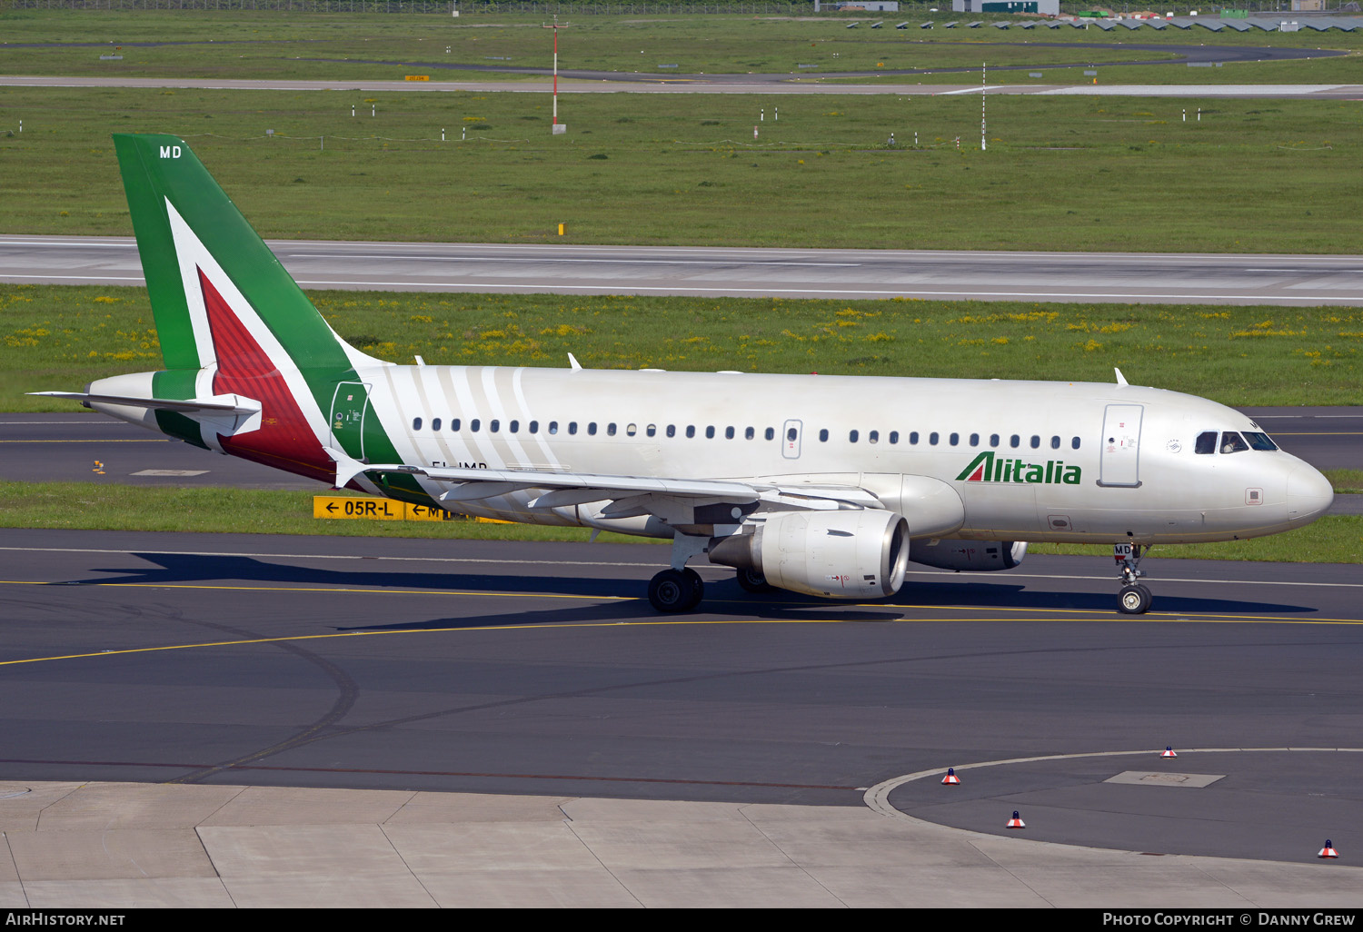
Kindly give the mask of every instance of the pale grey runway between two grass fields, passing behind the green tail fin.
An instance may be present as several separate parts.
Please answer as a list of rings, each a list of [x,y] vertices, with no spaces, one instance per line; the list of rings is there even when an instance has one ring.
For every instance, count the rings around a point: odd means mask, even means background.
[[[1363,256],[542,247],[273,240],[305,289],[1363,304]],[[143,283],[131,237],[0,236],[0,281]]]

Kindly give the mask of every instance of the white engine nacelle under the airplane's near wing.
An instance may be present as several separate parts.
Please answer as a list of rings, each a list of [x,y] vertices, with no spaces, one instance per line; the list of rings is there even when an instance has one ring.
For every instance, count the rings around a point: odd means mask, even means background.
[[[827,598],[894,595],[908,561],[909,522],[879,508],[786,511],[752,534],[710,546],[710,563],[754,570],[778,589]]]

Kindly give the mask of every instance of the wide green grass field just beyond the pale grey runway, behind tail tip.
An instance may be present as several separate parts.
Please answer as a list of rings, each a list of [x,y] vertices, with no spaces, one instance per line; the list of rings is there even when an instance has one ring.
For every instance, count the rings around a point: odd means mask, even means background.
[[[995,97],[980,151],[972,97],[578,94],[551,136],[537,94],[5,87],[0,188],[5,232],[127,234],[109,135],[173,132],[277,237],[1333,253],[1360,106]]]

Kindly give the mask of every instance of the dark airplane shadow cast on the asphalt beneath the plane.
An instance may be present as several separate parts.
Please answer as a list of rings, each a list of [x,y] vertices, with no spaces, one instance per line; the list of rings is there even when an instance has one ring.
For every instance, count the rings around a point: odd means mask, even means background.
[[[247,556],[204,556],[189,553],[136,553],[153,567],[144,570],[105,570],[94,572],[116,574],[105,579],[82,579],[53,585],[87,586],[109,582],[142,586],[172,586],[195,582],[240,580],[251,585],[282,585],[294,587],[335,587],[372,589],[375,591],[424,590],[455,593],[525,593],[526,595],[570,595],[582,598],[608,598],[607,604],[556,605],[552,609],[525,612],[523,605],[514,610],[518,624],[530,619],[552,619],[560,623],[611,621],[639,617],[656,617],[645,600],[642,579],[600,579],[590,576],[551,576],[522,574],[484,572],[408,572],[393,570],[323,570],[271,563]],[[1075,580],[1078,582],[1078,580]],[[836,617],[841,621],[895,621],[912,617],[924,606],[961,609],[962,606],[991,610],[1069,610],[1111,613],[1122,619],[1116,610],[1118,586],[1108,591],[1066,590],[1066,580],[1047,580],[1037,587],[1036,580],[1013,582],[1006,576],[980,580],[972,576],[960,582],[909,582],[898,595],[879,604],[857,604],[856,606],[833,600],[811,600],[796,593],[774,591],[762,595],[750,594],[732,579],[706,583],[706,598],[699,613],[703,616],[746,617],[759,620],[804,621],[811,617]],[[1317,606],[1266,602],[1247,598],[1216,598],[1169,595],[1160,591],[1159,580],[1150,583],[1154,591],[1152,612],[1180,615],[1289,615],[1315,613]],[[624,601],[617,601],[624,600]],[[883,608],[882,608],[883,606]],[[900,606],[913,606],[905,610]],[[507,624],[507,615],[487,615],[483,617],[438,619],[416,627],[478,627]],[[671,616],[675,619],[687,615]],[[384,627],[412,628],[412,624],[363,625],[378,631]]]

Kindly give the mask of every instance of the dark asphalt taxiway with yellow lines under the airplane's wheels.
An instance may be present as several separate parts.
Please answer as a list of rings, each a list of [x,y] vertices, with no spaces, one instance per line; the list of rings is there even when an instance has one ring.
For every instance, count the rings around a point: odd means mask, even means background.
[[[916,567],[864,605],[706,567],[703,610],[658,617],[647,546],[3,530],[0,553],[10,779],[861,807],[1066,755],[889,800],[994,835],[1030,807],[1040,841],[1363,850],[1351,567],[1150,557],[1138,620],[1086,557]],[[1105,782],[1161,767],[1221,779]]]

